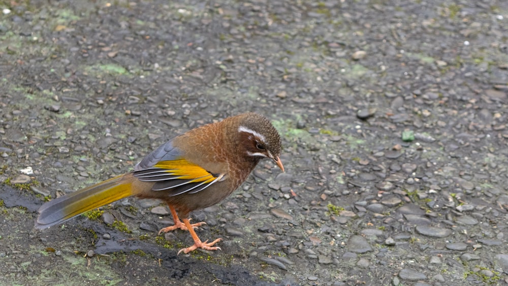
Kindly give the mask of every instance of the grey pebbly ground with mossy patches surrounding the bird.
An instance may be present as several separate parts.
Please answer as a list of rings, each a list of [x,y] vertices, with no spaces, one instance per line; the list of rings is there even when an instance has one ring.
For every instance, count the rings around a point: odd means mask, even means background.
[[[0,8],[0,284],[508,280],[507,1]],[[287,171],[262,162],[193,212],[222,251],[177,256],[192,239],[157,236],[152,200],[34,229],[45,200],[245,111],[273,121]]]

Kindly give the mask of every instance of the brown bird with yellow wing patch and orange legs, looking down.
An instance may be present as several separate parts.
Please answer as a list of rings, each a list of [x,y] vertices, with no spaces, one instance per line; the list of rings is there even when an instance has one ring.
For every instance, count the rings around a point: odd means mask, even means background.
[[[176,229],[188,231],[194,244],[178,251],[198,248],[221,250],[216,243],[201,241],[190,224],[189,213],[219,203],[234,192],[258,163],[268,158],[282,172],[281,139],[265,116],[247,112],[187,131],[146,155],[129,173],[82,188],[43,204],[36,229],[58,225],[86,211],[126,197],[160,199],[173,216]]]

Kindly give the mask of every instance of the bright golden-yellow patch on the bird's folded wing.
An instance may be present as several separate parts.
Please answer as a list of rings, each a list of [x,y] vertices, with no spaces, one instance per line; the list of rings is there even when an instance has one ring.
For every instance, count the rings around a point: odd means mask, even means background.
[[[164,172],[167,172],[169,175],[177,176],[178,179],[182,180],[191,180],[190,182],[193,183],[211,183],[217,178],[199,165],[190,163],[185,159],[160,161],[153,167],[165,169]]]

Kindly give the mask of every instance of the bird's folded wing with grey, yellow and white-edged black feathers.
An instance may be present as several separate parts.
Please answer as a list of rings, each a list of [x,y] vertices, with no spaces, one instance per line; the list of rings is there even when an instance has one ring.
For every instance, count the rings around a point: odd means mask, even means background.
[[[169,196],[198,193],[224,177],[185,160],[172,141],[148,154],[133,173],[140,181],[155,182],[152,190],[165,190]]]

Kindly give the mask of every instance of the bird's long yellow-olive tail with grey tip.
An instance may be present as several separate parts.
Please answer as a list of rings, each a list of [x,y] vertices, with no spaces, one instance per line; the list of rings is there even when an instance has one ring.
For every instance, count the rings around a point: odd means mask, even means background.
[[[120,175],[51,200],[39,208],[35,227],[45,229],[83,212],[132,196],[131,181]]]

